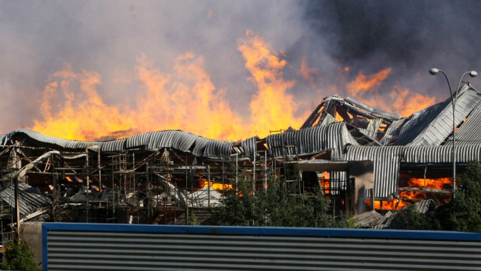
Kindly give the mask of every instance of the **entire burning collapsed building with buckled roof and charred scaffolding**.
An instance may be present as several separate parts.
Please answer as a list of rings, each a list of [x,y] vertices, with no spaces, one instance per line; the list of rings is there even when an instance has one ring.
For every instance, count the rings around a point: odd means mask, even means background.
[[[460,89],[454,115],[462,169],[480,161],[481,94],[470,84]],[[299,192],[319,188],[334,209],[354,213],[366,200],[378,210],[445,200],[452,124],[450,99],[402,118],[330,96],[301,129],[238,143],[180,130],[105,142],[15,130],[0,136],[2,242],[13,236],[17,205],[20,222],[185,224],[189,211],[201,217],[241,178],[264,187],[277,178]]]

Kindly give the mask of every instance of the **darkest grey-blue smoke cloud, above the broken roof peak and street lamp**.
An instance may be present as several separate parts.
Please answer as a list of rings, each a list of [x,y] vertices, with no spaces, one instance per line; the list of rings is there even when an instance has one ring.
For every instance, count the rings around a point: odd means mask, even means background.
[[[477,0],[310,1],[305,21],[316,37],[327,37],[324,49],[350,67],[351,79],[359,70],[392,67],[381,86],[385,93],[401,84],[444,99],[445,80],[427,71],[439,67],[455,84],[464,71],[480,69],[480,12]],[[475,86],[477,80],[471,80]]]

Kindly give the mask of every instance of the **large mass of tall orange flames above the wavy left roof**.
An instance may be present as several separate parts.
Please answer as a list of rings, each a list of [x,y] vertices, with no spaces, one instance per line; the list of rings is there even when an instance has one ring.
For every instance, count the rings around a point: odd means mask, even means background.
[[[240,140],[253,134],[266,136],[269,127],[299,127],[303,117],[286,91],[294,81],[283,79],[286,60],[269,43],[247,31],[238,50],[250,71],[257,92],[250,102],[250,119],[234,112],[205,71],[202,57],[187,52],[178,56],[171,72],[161,71],[141,54],[136,59],[133,105],[107,104],[97,92],[100,75],[75,72],[70,64],[51,76],[40,104],[41,120],[30,128],[66,139],[106,140],[164,129],[182,129],[220,140]],[[118,80],[117,80],[118,81]],[[120,81],[118,81],[120,82]]]

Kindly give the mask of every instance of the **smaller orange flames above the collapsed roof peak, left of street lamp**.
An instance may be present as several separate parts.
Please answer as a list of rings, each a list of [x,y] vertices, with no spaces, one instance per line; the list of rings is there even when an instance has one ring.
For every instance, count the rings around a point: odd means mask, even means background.
[[[400,85],[395,85],[389,95],[381,95],[378,91],[379,86],[389,76],[391,70],[389,67],[372,75],[359,72],[356,79],[346,85],[348,94],[371,106],[401,113],[403,117],[436,103],[435,97],[413,92]]]

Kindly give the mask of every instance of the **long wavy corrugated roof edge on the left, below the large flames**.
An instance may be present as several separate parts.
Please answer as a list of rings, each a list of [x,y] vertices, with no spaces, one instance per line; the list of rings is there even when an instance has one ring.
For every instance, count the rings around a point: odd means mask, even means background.
[[[192,151],[192,154],[196,156],[222,158],[230,156],[232,149],[231,142],[207,139],[180,130],[150,132],[125,139],[100,142],[55,138],[28,129],[15,130],[3,135],[3,137],[4,139],[10,139],[18,135],[26,135],[40,143],[56,145],[64,149],[85,149],[87,146],[98,145],[100,150],[107,152],[122,151],[129,148],[173,148],[184,152]]]

